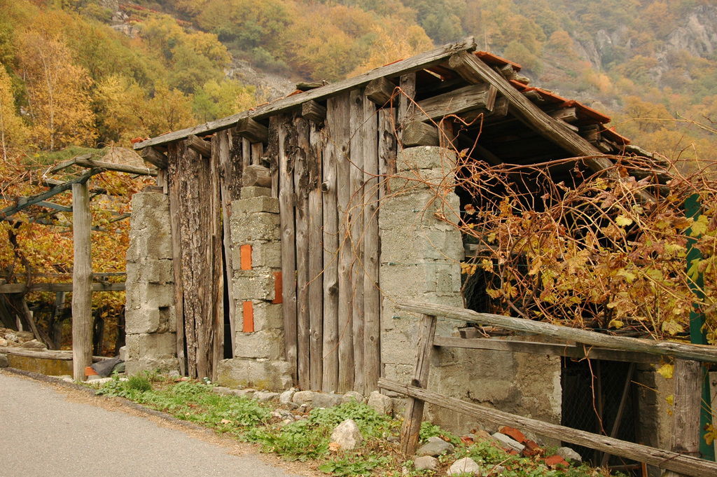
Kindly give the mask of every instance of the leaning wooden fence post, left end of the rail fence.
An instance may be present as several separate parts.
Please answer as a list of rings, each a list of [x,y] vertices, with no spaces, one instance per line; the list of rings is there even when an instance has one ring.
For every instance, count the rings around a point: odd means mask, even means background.
[[[436,317],[423,315],[418,331],[416,346],[416,369],[414,370],[412,386],[425,389],[428,384],[428,372],[431,365],[433,351],[433,337],[436,334]],[[401,451],[404,455],[414,455],[418,445],[418,434],[423,420],[422,400],[408,397],[406,400],[406,415],[401,428]]]

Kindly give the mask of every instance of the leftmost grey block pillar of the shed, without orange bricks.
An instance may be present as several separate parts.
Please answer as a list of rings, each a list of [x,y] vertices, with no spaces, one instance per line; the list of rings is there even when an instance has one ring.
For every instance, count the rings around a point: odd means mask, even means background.
[[[125,287],[128,374],[178,369],[169,200],[161,192],[132,197]]]

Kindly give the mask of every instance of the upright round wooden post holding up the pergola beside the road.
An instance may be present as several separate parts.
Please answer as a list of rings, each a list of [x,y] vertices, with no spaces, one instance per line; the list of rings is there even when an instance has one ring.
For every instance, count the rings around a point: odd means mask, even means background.
[[[87,182],[72,184],[72,374],[85,380],[92,364],[92,250],[90,189]]]

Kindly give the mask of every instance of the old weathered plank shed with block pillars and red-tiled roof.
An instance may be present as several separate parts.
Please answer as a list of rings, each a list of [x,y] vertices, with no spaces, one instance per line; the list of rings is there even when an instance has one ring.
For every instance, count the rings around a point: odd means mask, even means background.
[[[397,263],[387,261],[386,247],[411,238],[389,237],[390,218],[379,227],[392,181],[406,175],[397,155],[441,146],[488,163],[582,157],[601,171],[612,166],[606,154],[631,147],[603,126],[604,115],[528,86],[518,65],[475,52],[470,38],[309,88],[136,143],[161,169],[152,194],[163,198],[141,199],[135,207],[146,213],[133,213],[128,369],[134,359],[136,369],[163,363],[212,377],[222,374],[221,362],[238,359],[244,384],[370,392],[379,376],[400,374],[400,359],[394,371],[386,366],[394,343],[409,342],[391,341],[396,320],[382,281],[384,265]],[[452,170],[412,160],[417,170]],[[551,174],[559,179],[573,166]],[[450,189],[446,177],[428,176]],[[168,228],[148,226],[162,222],[153,214],[163,207]],[[450,247],[432,265],[457,268],[462,245],[457,253]],[[150,259],[165,271],[143,278]],[[404,265],[410,281],[418,269]],[[446,270],[460,305],[460,272],[456,285]]]

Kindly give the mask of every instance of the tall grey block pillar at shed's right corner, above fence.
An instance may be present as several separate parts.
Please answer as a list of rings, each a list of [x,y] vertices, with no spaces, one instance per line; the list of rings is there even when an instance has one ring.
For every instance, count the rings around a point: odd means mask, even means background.
[[[399,151],[391,194],[381,200],[381,375],[398,382],[413,377],[419,321],[394,303],[413,300],[462,307],[462,239],[459,230],[440,219],[456,222],[459,213],[453,192],[455,164],[455,154],[445,148]],[[437,334],[450,335],[451,330],[450,323],[438,322]],[[436,376],[434,369],[431,372]]]

